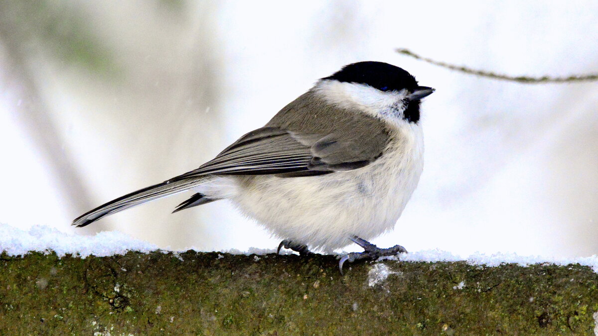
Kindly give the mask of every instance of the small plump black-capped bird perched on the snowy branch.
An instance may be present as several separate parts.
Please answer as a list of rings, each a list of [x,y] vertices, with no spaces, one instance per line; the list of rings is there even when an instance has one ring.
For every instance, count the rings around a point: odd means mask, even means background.
[[[407,252],[367,240],[395,226],[417,186],[423,169],[420,102],[433,92],[400,67],[349,64],[212,161],[100,205],[73,225],[191,190],[194,195],[173,212],[229,199],[283,239],[278,252],[329,252],[355,242],[364,252],[344,255],[341,274],[346,261]]]

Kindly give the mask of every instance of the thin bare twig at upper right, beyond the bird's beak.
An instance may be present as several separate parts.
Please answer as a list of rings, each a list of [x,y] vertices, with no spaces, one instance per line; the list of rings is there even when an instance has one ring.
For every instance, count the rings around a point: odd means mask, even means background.
[[[569,77],[551,77],[551,76],[542,76],[542,77],[529,77],[529,76],[508,76],[502,75],[500,73],[494,72],[487,72],[484,70],[475,70],[470,69],[465,66],[457,66],[454,64],[445,63],[443,61],[436,61],[432,60],[431,58],[426,58],[419,56],[416,53],[408,49],[397,49],[397,53],[407,55],[410,57],[415,58],[416,60],[422,60],[437,66],[446,67],[447,69],[456,70],[464,73],[469,73],[471,75],[483,76],[487,78],[493,79],[502,79],[504,81],[512,81],[524,84],[539,84],[539,83],[567,83],[567,82],[593,82],[598,81],[598,73],[590,73],[588,75],[572,75]]]

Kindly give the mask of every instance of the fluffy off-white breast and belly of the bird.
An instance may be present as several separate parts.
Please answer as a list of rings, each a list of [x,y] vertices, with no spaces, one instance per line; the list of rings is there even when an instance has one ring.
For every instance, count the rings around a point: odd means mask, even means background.
[[[349,245],[350,236],[367,240],[392,229],[422,168],[422,130],[405,122],[385,154],[364,168],[313,177],[224,178],[235,185],[231,201],[274,236],[331,251]]]

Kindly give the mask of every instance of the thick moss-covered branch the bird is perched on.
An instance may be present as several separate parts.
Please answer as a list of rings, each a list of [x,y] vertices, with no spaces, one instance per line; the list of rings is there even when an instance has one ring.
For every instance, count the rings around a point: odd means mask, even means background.
[[[0,264],[2,335],[590,335],[598,310],[598,275],[579,265],[383,261],[340,276],[334,256],[193,251]]]

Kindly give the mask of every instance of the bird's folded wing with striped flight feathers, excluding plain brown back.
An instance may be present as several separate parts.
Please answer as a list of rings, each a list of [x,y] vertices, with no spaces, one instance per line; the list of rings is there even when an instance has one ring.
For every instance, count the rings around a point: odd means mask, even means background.
[[[263,127],[243,135],[212,161],[171,181],[200,175],[263,175],[298,177],[361,168],[383,148],[360,150],[354,141],[332,134],[301,134]]]

